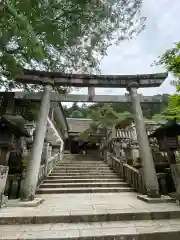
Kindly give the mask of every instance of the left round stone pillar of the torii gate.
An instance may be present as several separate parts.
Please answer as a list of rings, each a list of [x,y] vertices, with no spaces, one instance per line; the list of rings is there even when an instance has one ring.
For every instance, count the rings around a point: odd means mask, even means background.
[[[50,83],[44,86],[38,120],[36,122],[36,134],[27,165],[24,184],[21,189],[22,201],[32,201],[35,198],[52,89],[53,87]]]

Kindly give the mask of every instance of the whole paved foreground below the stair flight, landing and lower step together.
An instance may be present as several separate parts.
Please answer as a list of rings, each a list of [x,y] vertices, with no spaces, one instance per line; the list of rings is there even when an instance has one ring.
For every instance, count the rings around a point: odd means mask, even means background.
[[[180,207],[175,203],[145,203],[136,193],[54,194],[43,198],[45,201],[34,208],[1,209],[0,239],[154,240],[153,234],[169,239],[167,233],[180,239]]]

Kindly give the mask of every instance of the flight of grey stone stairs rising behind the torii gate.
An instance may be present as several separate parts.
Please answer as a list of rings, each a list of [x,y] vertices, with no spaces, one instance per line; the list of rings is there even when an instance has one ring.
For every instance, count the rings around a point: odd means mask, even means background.
[[[72,161],[58,165],[37,194],[133,192],[104,162]]]

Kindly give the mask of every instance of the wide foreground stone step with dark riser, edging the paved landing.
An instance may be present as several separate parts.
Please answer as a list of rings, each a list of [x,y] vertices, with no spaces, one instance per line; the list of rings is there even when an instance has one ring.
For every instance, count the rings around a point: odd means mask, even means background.
[[[30,210],[30,209],[29,209]],[[92,222],[110,222],[110,221],[137,221],[137,220],[177,220],[180,218],[180,210],[157,209],[112,209],[107,211],[96,210],[74,210],[74,212],[48,212],[39,213],[34,216],[32,211],[26,212],[16,211],[16,215],[12,213],[2,214],[0,217],[0,225],[22,225],[27,224],[53,224],[53,223],[92,223]],[[4,227],[4,226],[3,226]],[[179,227],[179,225],[178,225]],[[180,228],[179,228],[180,229]]]

